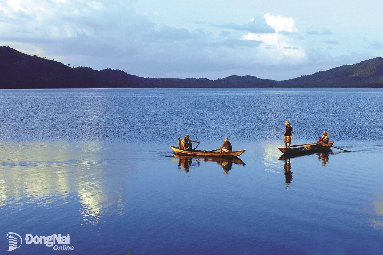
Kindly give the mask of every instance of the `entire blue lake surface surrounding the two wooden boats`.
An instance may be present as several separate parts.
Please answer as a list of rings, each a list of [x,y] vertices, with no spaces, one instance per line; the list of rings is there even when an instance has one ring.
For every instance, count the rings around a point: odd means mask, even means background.
[[[382,102],[379,89],[0,90],[0,253],[8,232],[70,234],[59,254],[381,253]],[[293,144],[327,131],[352,152],[281,158],[286,120]],[[246,152],[172,157],[187,133]]]

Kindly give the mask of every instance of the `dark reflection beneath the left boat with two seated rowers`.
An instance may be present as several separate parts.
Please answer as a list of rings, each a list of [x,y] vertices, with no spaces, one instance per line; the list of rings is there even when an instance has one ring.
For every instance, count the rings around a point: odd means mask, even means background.
[[[225,175],[228,175],[233,165],[246,165],[241,159],[234,158],[205,158],[205,157],[192,157],[185,155],[174,155],[172,160],[179,160],[178,169],[184,170],[185,173],[190,171],[190,168],[200,167],[201,162],[214,161],[223,168]]]

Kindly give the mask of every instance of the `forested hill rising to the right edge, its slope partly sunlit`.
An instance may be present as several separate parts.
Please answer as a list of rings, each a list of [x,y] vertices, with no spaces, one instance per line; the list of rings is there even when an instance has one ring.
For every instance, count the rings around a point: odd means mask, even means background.
[[[278,82],[280,87],[383,88],[383,58]]]

